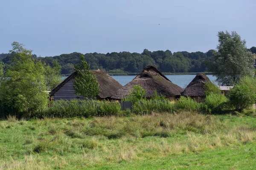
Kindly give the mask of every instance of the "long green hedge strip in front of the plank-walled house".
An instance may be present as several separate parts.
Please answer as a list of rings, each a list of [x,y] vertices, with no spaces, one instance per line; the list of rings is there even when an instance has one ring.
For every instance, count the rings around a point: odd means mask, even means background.
[[[121,105],[119,102],[111,101],[93,101],[72,99],[52,101],[51,107],[42,111],[35,112],[34,117],[55,117],[55,118],[73,118],[73,117],[92,117],[105,115],[118,115]]]

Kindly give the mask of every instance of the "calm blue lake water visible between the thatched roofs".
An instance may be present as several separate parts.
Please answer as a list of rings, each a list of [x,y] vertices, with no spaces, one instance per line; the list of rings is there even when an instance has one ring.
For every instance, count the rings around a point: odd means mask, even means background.
[[[165,75],[167,78],[169,78],[170,81],[172,81],[172,83],[177,84],[178,86],[185,88],[190,81],[193,80],[193,78],[195,78],[195,75]],[[128,84],[130,81],[132,81],[136,75],[112,75],[111,77],[113,77],[116,81],[118,81],[120,84],[122,84],[123,86],[125,84]],[[207,77],[211,80],[211,81],[215,81],[216,78],[212,75],[207,75]],[[62,77],[62,80],[64,80],[67,77]]]

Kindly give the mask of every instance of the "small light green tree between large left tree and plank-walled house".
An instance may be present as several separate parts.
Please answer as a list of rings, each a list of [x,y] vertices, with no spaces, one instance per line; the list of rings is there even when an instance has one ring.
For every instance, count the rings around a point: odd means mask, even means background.
[[[52,66],[45,66],[45,81],[49,91],[61,83],[61,65],[57,60],[52,62]]]

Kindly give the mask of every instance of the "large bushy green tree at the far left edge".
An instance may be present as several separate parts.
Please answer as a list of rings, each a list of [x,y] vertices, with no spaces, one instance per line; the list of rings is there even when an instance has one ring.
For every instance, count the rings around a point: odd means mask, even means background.
[[[46,92],[44,65],[23,44],[13,42],[12,48],[10,52],[15,52],[12,64],[0,80],[0,108],[5,115],[21,112],[30,115],[47,106],[49,95]]]

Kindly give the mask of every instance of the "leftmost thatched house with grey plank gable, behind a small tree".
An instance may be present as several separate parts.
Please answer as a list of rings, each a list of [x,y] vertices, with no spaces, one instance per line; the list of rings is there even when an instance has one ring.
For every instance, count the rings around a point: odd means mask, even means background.
[[[115,79],[113,79],[110,75],[108,75],[104,71],[100,70],[92,70],[93,75],[96,76],[97,81],[99,82],[99,87],[101,92],[97,99],[108,98],[113,95],[118,89],[122,88],[122,85],[119,84]],[[76,76],[76,72],[73,72],[70,76],[68,76],[64,81],[61,82],[58,86],[56,86],[51,92],[50,96],[53,97],[53,100],[70,100],[72,98],[83,98],[82,96],[76,95],[75,90],[73,88],[74,78]]]

